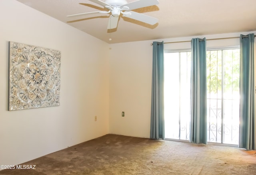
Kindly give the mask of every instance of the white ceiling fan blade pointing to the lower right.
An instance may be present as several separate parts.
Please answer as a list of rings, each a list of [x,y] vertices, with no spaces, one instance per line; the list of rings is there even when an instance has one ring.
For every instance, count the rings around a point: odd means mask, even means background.
[[[125,13],[127,13],[127,14],[125,14]],[[148,16],[148,15],[144,15],[144,14],[141,14],[141,13],[137,13],[137,12],[133,12],[133,11],[127,11],[125,13],[124,13],[124,17],[132,18],[134,20],[145,22],[145,23],[150,24],[150,25],[154,25],[158,22],[157,18]],[[130,15],[128,15],[129,13],[130,13]]]

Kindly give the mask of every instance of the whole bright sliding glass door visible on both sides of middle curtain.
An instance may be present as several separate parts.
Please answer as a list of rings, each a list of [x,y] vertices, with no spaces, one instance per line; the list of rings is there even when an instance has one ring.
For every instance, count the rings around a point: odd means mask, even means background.
[[[240,50],[207,51],[208,142],[238,144]],[[164,54],[165,135],[189,140],[191,52]]]

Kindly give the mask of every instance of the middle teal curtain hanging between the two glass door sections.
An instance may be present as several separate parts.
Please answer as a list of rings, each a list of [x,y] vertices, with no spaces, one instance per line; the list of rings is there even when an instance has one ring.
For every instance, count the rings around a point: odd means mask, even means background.
[[[191,40],[190,142],[207,144],[206,39]]]

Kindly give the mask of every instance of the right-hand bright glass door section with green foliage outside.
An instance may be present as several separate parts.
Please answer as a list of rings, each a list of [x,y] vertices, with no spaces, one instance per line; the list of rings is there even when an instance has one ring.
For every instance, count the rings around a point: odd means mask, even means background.
[[[240,50],[206,53],[208,142],[238,145]]]

